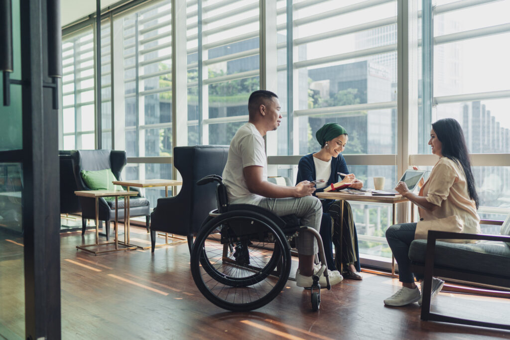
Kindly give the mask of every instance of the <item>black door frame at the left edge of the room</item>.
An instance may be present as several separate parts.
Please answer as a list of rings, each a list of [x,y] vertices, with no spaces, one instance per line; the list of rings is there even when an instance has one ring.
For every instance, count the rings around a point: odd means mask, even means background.
[[[22,166],[25,338],[34,340],[61,338],[58,110],[43,88],[52,82],[46,8],[56,2],[20,0],[23,149],[0,151],[0,162]]]

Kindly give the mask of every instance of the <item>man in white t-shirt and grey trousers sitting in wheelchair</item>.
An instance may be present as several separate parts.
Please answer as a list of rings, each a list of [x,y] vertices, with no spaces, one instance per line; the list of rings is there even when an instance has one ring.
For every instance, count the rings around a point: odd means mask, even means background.
[[[315,185],[307,180],[295,187],[282,187],[267,181],[267,158],[264,138],[268,131],[276,130],[282,115],[279,113],[278,96],[270,91],[253,92],[248,99],[249,119],[241,126],[230,143],[228,159],[223,170],[223,183],[228,202],[231,204],[253,204],[263,207],[277,216],[295,214],[301,225],[319,231],[322,204],[312,196]],[[310,232],[301,232],[296,238],[299,265],[296,285],[310,287],[312,275],[320,266],[314,266],[318,252],[317,241]],[[342,281],[338,271],[329,271],[331,285]],[[326,284],[324,275],[319,283]]]

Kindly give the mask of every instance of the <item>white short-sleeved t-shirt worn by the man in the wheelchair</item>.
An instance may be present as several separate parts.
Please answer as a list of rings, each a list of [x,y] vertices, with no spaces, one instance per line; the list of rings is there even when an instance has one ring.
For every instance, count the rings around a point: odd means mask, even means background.
[[[226,187],[229,203],[257,204],[263,197],[252,194],[246,186],[243,169],[252,165],[263,168],[263,178],[267,179],[267,157],[264,138],[252,123],[241,126],[228,149],[228,158],[223,170],[223,184]]]

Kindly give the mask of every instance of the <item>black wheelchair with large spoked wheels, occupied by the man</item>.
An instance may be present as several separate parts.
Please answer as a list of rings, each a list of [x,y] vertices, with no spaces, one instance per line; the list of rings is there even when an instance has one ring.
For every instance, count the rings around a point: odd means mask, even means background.
[[[202,223],[191,249],[191,274],[198,290],[215,305],[248,311],[271,302],[281,292],[291,270],[289,242],[298,232],[312,232],[322,262],[313,276],[312,309],[320,307],[320,289],[331,289],[319,233],[299,226],[295,215],[278,217],[251,204],[228,204],[218,175],[203,177],[197,185],[216,183],[216,210]],[[324,273],[326,287],[319,284]]]

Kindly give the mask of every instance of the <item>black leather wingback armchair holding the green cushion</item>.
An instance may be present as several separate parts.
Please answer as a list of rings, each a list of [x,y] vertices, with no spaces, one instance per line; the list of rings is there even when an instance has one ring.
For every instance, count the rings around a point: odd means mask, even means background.
[[[111,169],[115,178],[120,180],[120,172],[126,165],[125,151],[115,150],[73,150],[71,158],[74,165],[74,178],[78,190],[91,190],[87,187],[81,176],[82,170],[97,171]],[[139,191],[137,188],[130,188],[131,191]],[[87,219],[95,220],[95,199],[80,197],[82,206],[82,234],[85,232]],[[118,217],[124,219],[124,201],[119,200]],[[110,239],[110,221],[115,220],[115,201],[99,198],[99,220],[105,221],[106,239]],[[138,194],[130,199],[130,216],[145,216],[147,225],[150,222],[149,201]]]

